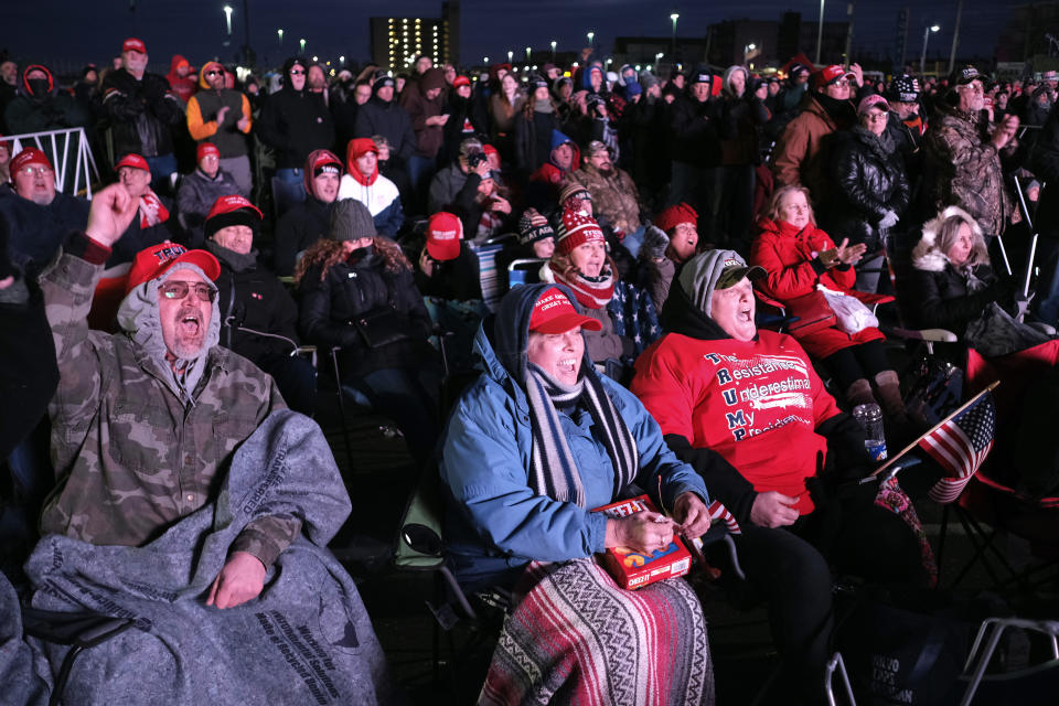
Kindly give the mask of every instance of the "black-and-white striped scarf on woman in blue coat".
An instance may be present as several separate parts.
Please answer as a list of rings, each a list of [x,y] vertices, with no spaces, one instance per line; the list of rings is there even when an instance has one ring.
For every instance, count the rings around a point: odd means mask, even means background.
[[[577,384],[566,386],[537,365],[528,363],[526,393],[530,400],[530,428],[533,434],[530,488],[537,495],[585,506],[585,488],[559,424],[557,409],[580,403],[588,408],[602,437],[607,456],[614,466],[611,498],[620,498],[625,486],[640,472],[640,451],[595,371],[585,368]]]

